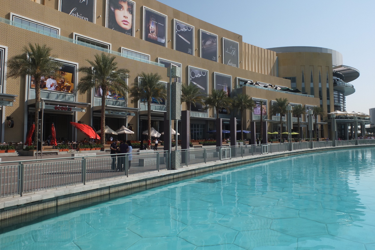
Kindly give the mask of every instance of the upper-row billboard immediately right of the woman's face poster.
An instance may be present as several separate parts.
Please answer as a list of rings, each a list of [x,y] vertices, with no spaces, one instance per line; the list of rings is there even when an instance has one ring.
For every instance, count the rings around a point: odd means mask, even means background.
[[[143,40],[166,47],[166,15],[143,7]]]

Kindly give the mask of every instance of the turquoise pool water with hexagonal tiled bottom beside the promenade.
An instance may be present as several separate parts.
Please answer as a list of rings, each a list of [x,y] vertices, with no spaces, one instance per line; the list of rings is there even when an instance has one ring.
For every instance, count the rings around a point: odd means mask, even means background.
[[[375,149],[247,164],[0,235],[7,249],[375,250]]]

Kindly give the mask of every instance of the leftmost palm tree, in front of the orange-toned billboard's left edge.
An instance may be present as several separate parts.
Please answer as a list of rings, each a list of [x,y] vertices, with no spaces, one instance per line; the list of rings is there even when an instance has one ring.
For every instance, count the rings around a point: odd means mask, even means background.
[[[47,75],[56,75],[61,63],[54,60],[52,49],[47,45],[32,45],[24,47],[22,54],[11,57],[7,62],[7,77],[17,78],[24,75],[34,77],[35,83],[35,131],[38,131],[40,108],[40,78]],[[35,133],[34,142],[38,141],[38,133]]]

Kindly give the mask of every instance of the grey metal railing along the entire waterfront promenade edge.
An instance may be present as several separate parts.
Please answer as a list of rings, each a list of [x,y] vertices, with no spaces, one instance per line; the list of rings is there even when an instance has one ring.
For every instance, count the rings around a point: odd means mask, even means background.
[[[374,139],[269,143],[183,149],[181,167],[276,152],[336,146],[375,145]],[[0,165],[0,197],[23,195],[101,179],[131,176],[170,169],[168,151],[130,154],[77,156],[64,158],[7,161]],[[114,165],[113,164],[114,160]],[[114,166],[114,169],[112,168]]]

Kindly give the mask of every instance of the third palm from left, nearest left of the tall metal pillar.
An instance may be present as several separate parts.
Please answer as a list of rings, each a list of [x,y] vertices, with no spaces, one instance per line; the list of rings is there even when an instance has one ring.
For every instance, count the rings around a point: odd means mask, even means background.
[[[164,84],[159,83],[162,77],[157,73],[142,72],[138,76],[142,79],[130,89],[130,96],[133,98],[132,103],[138,100],[147,102],[147,131],[148,140],[151,141],[151,102],[152,99],[158,102],[166,99],[166,89]]]

